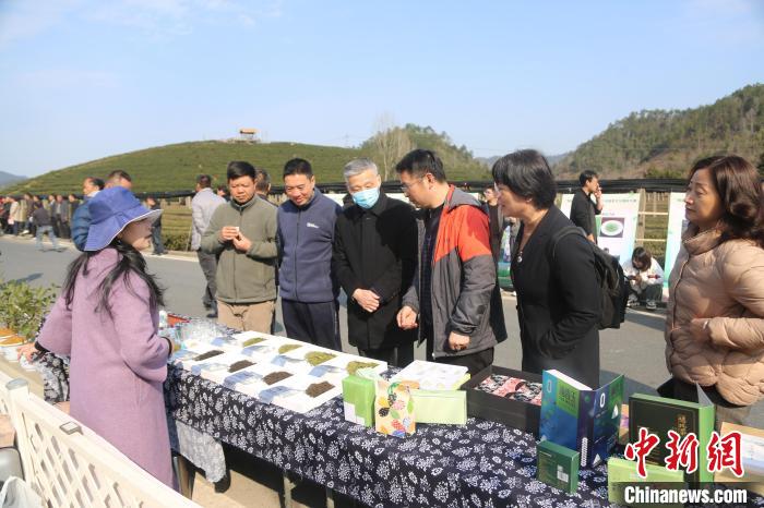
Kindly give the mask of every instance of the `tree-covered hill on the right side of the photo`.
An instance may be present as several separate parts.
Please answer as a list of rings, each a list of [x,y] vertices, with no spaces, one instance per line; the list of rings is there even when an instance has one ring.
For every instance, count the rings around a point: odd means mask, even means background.
[[[733,153],[764,160],[764,85],[741,88],[713,105],[633,112],[580,145],[554,170],[594,169],[608,179],[684,177],[701,157]]]

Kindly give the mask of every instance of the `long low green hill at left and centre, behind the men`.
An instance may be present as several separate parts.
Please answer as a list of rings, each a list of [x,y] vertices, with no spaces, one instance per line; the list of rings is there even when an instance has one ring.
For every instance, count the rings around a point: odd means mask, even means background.
[[[473,159],[465,147],[456,147],[445,133],[437,134],[431,128],[407,125],[411,133],[410,147],[431,148],[443,158],[451,180],[485,180],[488,171]],[[9,193],[70,193],[82,192],[86,177],[104,178],[115,169],[128,171],[134,180],[134,191],[171,192],[191,190],[199,173],[212,174],[225,183],[226,166],[231,160],[247,160],[265,168],[274,185],[280,183],[284,164],[294,157],[311,161],[319,183],[343,181],[342,170],[356,157],[378,154],[368,144],[360,148],[306,145],[300,143],[189,142],[115,155],[89,162],[50,171],[39,177],[14,183],[3,189]],[[378,161],[379,164],[379,161]],[[395,179],[395,173],[389,179]]]

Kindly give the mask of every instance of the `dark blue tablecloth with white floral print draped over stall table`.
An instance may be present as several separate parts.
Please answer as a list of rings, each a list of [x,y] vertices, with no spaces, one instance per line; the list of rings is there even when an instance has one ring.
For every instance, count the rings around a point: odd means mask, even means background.
[[[536,480],[534,436],[499,423],[420,424],[396,438],[346,422],[342,398],[299,414],[180,368],[165,389],[177,420],[369,506],[610,506],[605,465],[568,495]]]

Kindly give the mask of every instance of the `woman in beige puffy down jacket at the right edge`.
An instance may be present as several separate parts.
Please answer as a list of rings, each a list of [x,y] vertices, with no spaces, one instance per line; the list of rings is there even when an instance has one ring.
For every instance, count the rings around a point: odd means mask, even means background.
[[[764,394],[763,194],[753,166],[709,157],[690,171],[688,229],[669,277],[666,362],[675,396],[693,383],[716,406],[716,426],[743,424]]]

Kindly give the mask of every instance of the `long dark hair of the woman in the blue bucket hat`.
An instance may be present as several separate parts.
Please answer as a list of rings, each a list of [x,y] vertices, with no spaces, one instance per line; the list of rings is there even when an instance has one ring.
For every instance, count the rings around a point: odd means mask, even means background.
[[[95,307],[95,312],[106,312],[109,317],[114,317],[111,314],[111,305],[109,304],[109,295],[111,294],[111,288],[114,283],[122,277],[128,290],[133,294],[136,294],[130,285],[130,273],[138,275],[141,280],[146,282],[148,286],[148,305],[151,309],[157,309],[159,305],[165,304],[164,300],[164,289],[156,283],[154,276],[146,271],[146,259],[143,258],[140,252],[135,250],[130,244],[122,242],[120,239],[115,239],[109,246],[106,249],[115,249],[119,254],[119,262],[117,266],[111,269],[111,271],[106,276],[106,278],[98,286],[98,292],[100,298],[98,300],[98,305]],[[74,298],[74,285],[76,283],[76,277],[82,270],[83,275],[87,275],[87,264],[91,257],[98,254],[100,251],[96,252],[85,252],[80,257],[74,259],[69,265],[69,270],[67,273],[67,279],[63,282],[63,292],[65,294],[67,309],[72,304]]]

